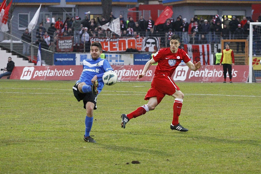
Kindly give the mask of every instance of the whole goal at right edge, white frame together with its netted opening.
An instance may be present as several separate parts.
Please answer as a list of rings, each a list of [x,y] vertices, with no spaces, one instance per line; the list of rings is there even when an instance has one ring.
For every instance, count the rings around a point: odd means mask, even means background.
[[[261,81],[261,22],[250,22],[249,29],[249,83]],[[254,78],[253,78],[254,76]]]

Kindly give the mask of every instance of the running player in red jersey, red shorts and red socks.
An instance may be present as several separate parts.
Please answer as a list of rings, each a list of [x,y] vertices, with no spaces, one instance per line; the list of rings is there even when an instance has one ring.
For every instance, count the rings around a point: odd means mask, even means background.
[[[170,37],[170,47],[159,50],[155,53],[155,55],[153,55],[153,58],[146,63],[142,73],[138,75],[137,80],[145,76],[146,72],[149,70],[150,66],[153,63],[158,62],[151,83],[151,88],[144,98],[145,100],[149,100],[149,102],[146,105],[140,106],[138,109],[127,115],[122,114],[122,128],[125,128],[126,123],[130,119],[136,118],[145,114],[146,112],[154,110],[155,107],[161,102],[163,97],[167,94],[175,98],[173,105],[173,121],[170,124],[170,129],[179,130],[182,132],[188,131],[188,129],[183,128],[179,124],[179,115],[183,103],[184,94],[171,79],[171,75],[182,60],[192,71],[196,71],[197,69],[199,69],[201,67],[201,62],[194,62],[193,64],[187,53],[184,50],[179,49],[179,46],[180,37],[178,35],[172,35]]]

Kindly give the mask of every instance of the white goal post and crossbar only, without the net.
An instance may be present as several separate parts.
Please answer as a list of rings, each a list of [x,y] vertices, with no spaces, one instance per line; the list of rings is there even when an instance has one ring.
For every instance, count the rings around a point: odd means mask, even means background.
[[[249,27],[249,75],[248,75],[248,82],[252,83],[252,62],[253,62],[253,26],[260,26],[261,28],[261,22],[250,22]],[[260,31],[261,32],[261,31]],[[261,39],[261,38],[260,38]]]

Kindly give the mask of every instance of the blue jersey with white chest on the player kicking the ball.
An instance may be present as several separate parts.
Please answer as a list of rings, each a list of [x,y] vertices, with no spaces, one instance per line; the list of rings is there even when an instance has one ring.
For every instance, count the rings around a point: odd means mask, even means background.
[[[80,76],[80,79],[76,82],[85,82],[86,85],[92,85],[92,78],[95,75],[102,74],[108,70],[112,70],[111,65],[109,64],[108,60],[98,58],[97,60],[93,59],[85,59],[83,61],[83,71]],[[104,82],[102,81],[102,78],[98,79],[99,85],[98,85],[98,91],[102,91],[102,88],[104,86]]]

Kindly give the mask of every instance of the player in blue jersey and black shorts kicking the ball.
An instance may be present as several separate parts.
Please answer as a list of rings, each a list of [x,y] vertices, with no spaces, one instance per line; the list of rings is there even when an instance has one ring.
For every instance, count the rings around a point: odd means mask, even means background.
[[[73,93],[78,101],[83,100],[86,109],[84,141],[96,143],[90,136],[93,122],[93,110],[97,109],[97,95],[104,86],[102,76],[105,71],[112,70],[108,60],[100,58],[102,45],[94,42],[91,45],[91,59],[83,61],[83,71],[80,79],[73,86]]]

